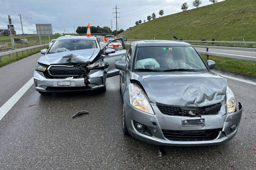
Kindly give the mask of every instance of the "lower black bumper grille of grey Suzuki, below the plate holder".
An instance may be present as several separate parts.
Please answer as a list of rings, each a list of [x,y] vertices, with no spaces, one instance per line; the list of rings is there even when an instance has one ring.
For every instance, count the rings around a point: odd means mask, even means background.
[[[215,139],[221,129],[178,131],[163,130],[164,137],[172,141],[207,141]]]

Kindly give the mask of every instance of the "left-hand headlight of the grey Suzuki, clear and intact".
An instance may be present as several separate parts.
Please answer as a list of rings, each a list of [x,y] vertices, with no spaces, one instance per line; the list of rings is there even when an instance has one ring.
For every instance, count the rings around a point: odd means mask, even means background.
[[[129,96],[130,104],[133,107],[153,115],[155,114],[150,105],[149,99],[146,97],[146,94],[136,84],[129,84]]]

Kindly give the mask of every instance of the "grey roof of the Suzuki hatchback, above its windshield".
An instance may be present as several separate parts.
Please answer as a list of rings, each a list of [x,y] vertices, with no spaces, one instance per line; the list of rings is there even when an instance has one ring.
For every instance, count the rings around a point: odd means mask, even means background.
[[[169,41],[169,40],[144,40],[135,41],[138,46],[191,46],[186,42]]]

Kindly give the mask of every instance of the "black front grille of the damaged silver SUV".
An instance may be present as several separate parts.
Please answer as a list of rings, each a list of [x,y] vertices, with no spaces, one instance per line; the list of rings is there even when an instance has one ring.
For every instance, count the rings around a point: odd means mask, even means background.
[[[74,66],[51,66],[49,68],[49,73],[52,76],[80,76],[84,71]]]

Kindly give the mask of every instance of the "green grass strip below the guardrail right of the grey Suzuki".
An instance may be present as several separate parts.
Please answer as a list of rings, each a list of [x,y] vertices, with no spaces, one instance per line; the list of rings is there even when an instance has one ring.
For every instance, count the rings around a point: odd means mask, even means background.
[[[206,55],[201,54],[204,61],[206,61]],[[240,59],[231,59],[226,57],[209,56],[209,60],[213,60],[216,63],[215,68],[218,70],[224,70],[228,72],[248,75],[256,77],[256,62]]]

